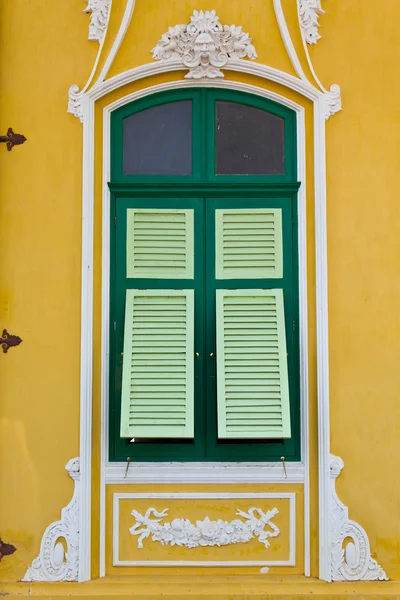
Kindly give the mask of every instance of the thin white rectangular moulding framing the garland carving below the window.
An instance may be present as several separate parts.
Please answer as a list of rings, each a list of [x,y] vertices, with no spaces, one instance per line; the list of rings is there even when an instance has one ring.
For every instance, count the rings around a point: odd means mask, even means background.
[[[169,500],[195,500],[195,499],[288,499],[289,500],[289,559],[275,561],[190,561],[190,560],[119,560],[119,501],[127,499],[169,499]],[[128,534],[128,531],[127,531]],[[114,567],[294,567],[296,565],[296,494],[287,493],[114,493],[113,494],[113,566]]]

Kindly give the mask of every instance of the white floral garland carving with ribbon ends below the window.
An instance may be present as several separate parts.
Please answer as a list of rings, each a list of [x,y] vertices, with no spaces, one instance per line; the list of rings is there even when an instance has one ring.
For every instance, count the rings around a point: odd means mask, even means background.
[[[266,548],[270,545],[268,538],[279,535],[280,530],[272,523],[272,519],[278,514],[278,509],[273,508],[263,512],[260,508],[250,508],[247,513],[238,510],[237,515],[245,519],[234,519],[233,521],[211,521],[206,517],[202,521],[196,521],[194,525],[189,519],[174,519],[171,523],[160,522],[168,514],[165,508],[157,512],[155,508],[149,508],[144,515],[136,510],[132,511],[136,523],[129,531],[132,535],[138,535],[138,548],[143,548],[143,540],[151,536],[153,542],[161,542],[164,545],[185,546],[186,548],[197,548],[197,546],[227,546],[228,544],[247,543],[253,538],[264,544]],[[156,518],[151,518],[151,517]],[[268,525],[270,529],[265,531]]]

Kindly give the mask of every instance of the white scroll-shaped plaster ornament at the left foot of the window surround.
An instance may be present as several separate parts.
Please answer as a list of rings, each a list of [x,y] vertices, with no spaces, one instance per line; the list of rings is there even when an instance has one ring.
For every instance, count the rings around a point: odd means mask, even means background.
[[[79,477],[80,461],[72,458],[65,466],[75,483],[70,503],[61,510],[61,519],[43,534],[39,556],[28,567],[22,581],[77,581],[79,571]],[[60,541],[65,541],[67,550]]]

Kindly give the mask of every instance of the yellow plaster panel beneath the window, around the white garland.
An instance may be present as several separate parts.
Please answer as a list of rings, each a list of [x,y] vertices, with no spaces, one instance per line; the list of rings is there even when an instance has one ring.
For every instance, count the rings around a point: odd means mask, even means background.
[[[195,494],[202,492],[213,493],[287,493],[296,494],[296,566],[295,567],[271,567],[271,573],[281,574],[301,574],[304,571],[304,527],[303,527],[303,487],[300,485],[108,485],[107,486],[107,574],[116,576],[129,575],[132,571],[137,574],[146,574],[148,567],[121,567],[113,566],[112,543],[113,539],[113,519],[114,505],[113,495],[115,493],[155,493],[155,492],[190,492]],[[290,514],[288,499],[121,499],[119,507],[119,559],[120,560],[193,560],[193,561],[273,561],[289,560],[289,533],[290,533]],[[252,506],[257,506],[263,510],[278,508],[279,515],[274,517],[273,522],[280,528],[281,533],[276,538],[269,541],[271,546],[265,548],[258,540],[252,540],[248,544],[235,544],[224,547],[214,548],[178,548],[162,546],[160,543],[152,542],[151,538],[145,540],[143,549],[137,547],[137,537],[129,533],[135,520],[131,516],[133,509],[144,514],[149,507],[155,507],[157,510],[169,509],[169,515],[164,521],[171,521],[174,518],[187,518],[196,523],[197,520],[209,516],[211,520],[223,519],[231,521],[235,518],[237,509],[248,511]],[[235,574],[238,569],[243,574],[259,573],[261,567],[212,567],[215,574]],[[203,574],[208,571],[207,567],[158,567],[151,568],[152,572],[165,575],[171,574]]]

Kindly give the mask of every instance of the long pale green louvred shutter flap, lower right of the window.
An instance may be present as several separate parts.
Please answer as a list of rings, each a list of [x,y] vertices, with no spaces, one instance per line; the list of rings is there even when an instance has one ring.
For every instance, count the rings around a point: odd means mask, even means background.
[[[282,290],[217,290],[219,438],[290,437]]]

